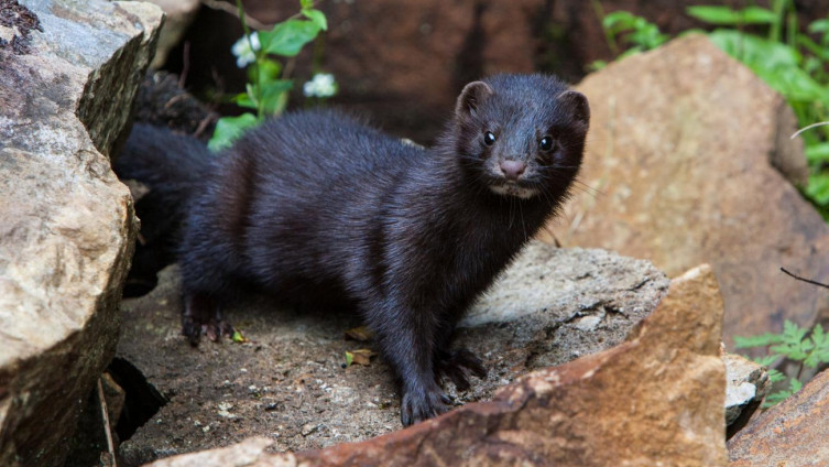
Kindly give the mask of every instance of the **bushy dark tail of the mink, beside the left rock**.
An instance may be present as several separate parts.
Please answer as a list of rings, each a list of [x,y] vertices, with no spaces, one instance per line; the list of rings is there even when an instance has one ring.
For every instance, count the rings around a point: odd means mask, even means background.
[[[212,170],[216,155],[197,139],[135,123],[112,169],[130,185],[141,232],[124,296],[152,290],[156,273],[175,262],[189,199]]]

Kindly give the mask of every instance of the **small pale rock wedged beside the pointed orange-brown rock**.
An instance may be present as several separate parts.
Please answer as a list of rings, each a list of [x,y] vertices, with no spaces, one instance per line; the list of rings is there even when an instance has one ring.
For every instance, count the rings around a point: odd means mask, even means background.
[[[726,363],[726,425],[732,436],[745,426],[772,390],[768,371],[739,355],[722,356]]]

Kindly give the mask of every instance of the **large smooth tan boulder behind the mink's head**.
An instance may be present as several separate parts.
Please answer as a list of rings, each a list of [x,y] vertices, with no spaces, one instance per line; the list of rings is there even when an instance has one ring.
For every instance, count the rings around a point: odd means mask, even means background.
[[[829,312],[827,291],[779,271],[829,282],[829,227],[768,162],[786,145],[800,153],[778,138],[790,126],[781,96],[700,35],[613,63],[578,89],[592,120],[586,188],[566,207],[571,226],[550,225],[561,245],[645,258],[669,276],[710,262],[728,346]]]

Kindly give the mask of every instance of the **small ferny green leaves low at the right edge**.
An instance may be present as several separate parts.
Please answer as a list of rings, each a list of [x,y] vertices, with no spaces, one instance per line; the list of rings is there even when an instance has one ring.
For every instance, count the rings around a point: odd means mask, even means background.
[[[800,365],[797,377],[788,379],[788,388],[770,394],[763,403],[764,408],[770,408],[783,401],[803,388],[799,373],[804,367],[817,368],[821,363],[829,363],[829,336],[823,332],[820,324],[809,332],[786,321],[782,334],[766,333],[761,336],[738,336],[734,337],[734,344],[737,348],[768,347],[768,355],[755,360],[764,367],[770,367],[783,358]],[[768,370],[768,378],[772,383],[786,380],[786,376],[775,369]]]

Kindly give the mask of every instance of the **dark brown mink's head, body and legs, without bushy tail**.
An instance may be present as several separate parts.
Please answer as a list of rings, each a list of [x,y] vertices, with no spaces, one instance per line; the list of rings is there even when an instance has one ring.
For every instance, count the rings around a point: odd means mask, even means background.
[[[463,88],[427,150],[313,110],[201,158],[208,170],[164,154],[188,172],[170,183],[201,178],[181,227],[183,333],[228,333],[220,311],[249,285],[353,309],[394,370],[403,425],[446,412],[441,379],[486,374],[450,348],[455,325],[566,199],[589,113],[554,77],[498,75]]]

